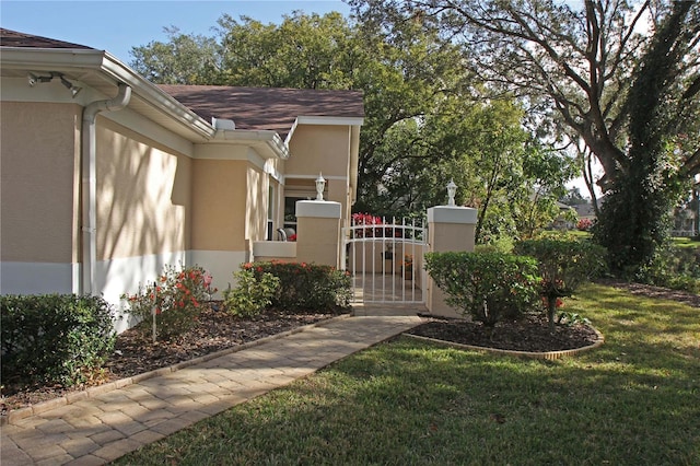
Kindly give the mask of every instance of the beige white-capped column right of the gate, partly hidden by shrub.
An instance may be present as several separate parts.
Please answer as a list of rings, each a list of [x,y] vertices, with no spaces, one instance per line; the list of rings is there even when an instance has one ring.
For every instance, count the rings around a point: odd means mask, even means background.
[[[477,210],[470,207],[439,206],[428,209],[428,249],[431,253],[471,252]],[[462,317],[445,304],[444,293],[428,277],[425,305],[431,314]]]

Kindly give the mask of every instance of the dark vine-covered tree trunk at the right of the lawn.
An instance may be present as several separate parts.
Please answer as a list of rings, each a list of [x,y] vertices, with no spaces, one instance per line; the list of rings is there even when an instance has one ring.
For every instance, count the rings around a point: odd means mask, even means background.
[[[688,38],[681,36],[689,32],[679,30],[678,24],[690,7],[689,2],[674,5],[640,62],[628,98],[632,163],[627,166],[626,177],[615,179],[594,230],[598,241],[610,251],[611,266],[629,275],[649,265],[656,248],[663,245],[669,212],[684,187],[675,166],[677,153],[668,147],[675,145],[678,116],[678,109],[668,105],[675,98],[674,86],[668,83],[675,81],[682,68]],[[697,27],[696,42],[700,39],[700,26]],[[681,165],[680,171],[685,170]],[[669,191],[675,196],[669,196]]]

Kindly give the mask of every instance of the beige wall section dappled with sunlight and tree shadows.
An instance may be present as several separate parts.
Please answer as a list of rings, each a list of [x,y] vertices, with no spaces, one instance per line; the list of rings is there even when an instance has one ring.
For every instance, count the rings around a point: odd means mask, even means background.
[[[97,121],[98,260],[188,249],[191,159]]]

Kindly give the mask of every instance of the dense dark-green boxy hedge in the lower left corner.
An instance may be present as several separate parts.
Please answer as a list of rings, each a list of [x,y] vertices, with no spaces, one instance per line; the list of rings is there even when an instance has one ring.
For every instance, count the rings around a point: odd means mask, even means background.
[[[75,385],[114,349],[112,308],[100,296],[2,295],[0,308],[5,385]]]

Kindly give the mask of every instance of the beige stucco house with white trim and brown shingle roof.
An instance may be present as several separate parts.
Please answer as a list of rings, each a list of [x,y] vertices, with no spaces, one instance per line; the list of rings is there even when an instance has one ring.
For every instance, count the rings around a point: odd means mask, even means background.
[[[0,292],[118,303],[180,263],[225,288],[319,173],[349,221],[361,93],[159,86],[103,50],[0,40]]]

